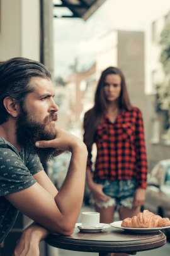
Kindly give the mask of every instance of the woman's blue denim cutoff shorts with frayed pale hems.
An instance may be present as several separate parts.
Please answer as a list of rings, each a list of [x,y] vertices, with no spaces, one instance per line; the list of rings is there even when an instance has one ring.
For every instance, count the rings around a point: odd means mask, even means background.
[[[91,194],[90,203],[95,204],[100,208],[107,208],[108,206],[127,207],[132,209],[133,196],[136,190],[136,180],[96,180],[94,182],[103,185],[103,193],[111,197],[108,202],[97,202]]]

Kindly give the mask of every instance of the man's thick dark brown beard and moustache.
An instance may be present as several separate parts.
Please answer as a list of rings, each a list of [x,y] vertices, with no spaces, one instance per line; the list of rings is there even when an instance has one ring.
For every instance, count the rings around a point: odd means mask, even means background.
[[[55,126],[50,121],[57,121],[57,113],[51,113],[42,123],[36,119],[30,119],[27,111],[23,110],[16,122],[16,138],[21,148],[30,150],[31,154],[37,154],[44,163],[52,161],[59,150],[54,148],[41,149],[35,146],[40,140],[54,140],[57,133]]]

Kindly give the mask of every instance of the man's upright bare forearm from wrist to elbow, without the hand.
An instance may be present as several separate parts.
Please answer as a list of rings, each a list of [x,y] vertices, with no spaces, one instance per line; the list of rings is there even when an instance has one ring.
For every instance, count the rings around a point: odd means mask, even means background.
[[[72,151],[71,163],[62,188],[55,197],[55,202],[62,214],[77,219],[84,196],[87,150],[84,144]]]

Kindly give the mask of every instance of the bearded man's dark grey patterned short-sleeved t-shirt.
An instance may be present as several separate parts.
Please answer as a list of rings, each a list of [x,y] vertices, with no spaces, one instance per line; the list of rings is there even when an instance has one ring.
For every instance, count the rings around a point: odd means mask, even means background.
[[[18,210],[4,195],[25,190],[36,181],[33,174],[43,167],[37,155],[22,149],[20,153],[11,143],[0,137],[0,243],[13,227]]]

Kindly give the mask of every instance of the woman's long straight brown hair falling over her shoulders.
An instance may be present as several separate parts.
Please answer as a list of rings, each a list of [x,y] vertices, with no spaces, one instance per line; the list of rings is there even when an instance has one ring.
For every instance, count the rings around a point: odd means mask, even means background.
[[[121,92],[119,97],[119,109],[128,110],[132,107],[128,96],[127,85],[125,82],[125,76],[119,68],[110,66],[101,73],[98,86],[94,97],[94,107],[86,112],[84,116],[84,141],[87,147],[90,149],[94,142],[94,133],[97,127],[100,125],[104,114],[108,108],[108,104],[105,98],[104,83],[107,75],[116,74],[121,78]]]

